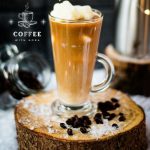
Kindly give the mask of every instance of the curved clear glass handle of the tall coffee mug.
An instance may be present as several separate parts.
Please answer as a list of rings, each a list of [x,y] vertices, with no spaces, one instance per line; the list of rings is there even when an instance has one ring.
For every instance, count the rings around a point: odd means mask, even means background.
[[[107,89],[114,77],[115,69],[111,60],[104,54],[97,54],[97,62],[101,63],[106,70],[106,78],[99,84],[93,85],[91,87],[91,92],[101,92]]]

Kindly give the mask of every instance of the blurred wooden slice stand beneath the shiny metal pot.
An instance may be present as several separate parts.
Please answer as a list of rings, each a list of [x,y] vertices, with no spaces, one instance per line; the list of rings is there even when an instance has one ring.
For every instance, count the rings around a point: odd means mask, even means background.
[[[111,45],[105,50],[116,75],[112,87],[129,94],[150,96],[150,59],[136,59],[117,53]]]

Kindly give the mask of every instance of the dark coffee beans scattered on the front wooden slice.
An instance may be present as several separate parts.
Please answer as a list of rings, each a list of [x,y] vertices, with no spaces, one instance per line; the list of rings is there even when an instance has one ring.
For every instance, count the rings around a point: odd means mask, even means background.
[[[101,113],[100,112],[96,113],[93,118],[96,124],[103,124],[103,118],[108,119],[109,121],[113,120],[116,117],[116,114],[111,113],[109,111],[115,110],[118,107],[120,107],[120,104],[118,102],[119,100],[116,98],[111,98],[111,101],[99,102],[97,104],[98,105],[97,107],[98,107],[98,111],[101,111]],[[118,116],[119,116],[119,121],[126,120],[123,113],[119,113]],[[66,124],[72,128],[79,128],[81,133],[86,134],[88,133],[87,129],[90,128],[92,121],[88,116],[78,117],[77,115],[74,115],[73,117],[68,118],[66,120]],[[60,123],[60,127],[63,129],[67,129],[66,124]],[[119,128],[119,126],[116,123],[112,124],[112,127],[116,129]],[[71,128],[68,128],[67,133],[69,136],[72,136],[73,130]]]

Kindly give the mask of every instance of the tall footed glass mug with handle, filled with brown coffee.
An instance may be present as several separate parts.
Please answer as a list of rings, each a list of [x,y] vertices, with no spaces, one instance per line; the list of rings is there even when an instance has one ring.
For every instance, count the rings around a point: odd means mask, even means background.
[[[92,113],[90,92],[105,90],[112,80],[114,67],[111,61],[97,53],[103,17],[98,10],[93,11],[96,15],[90,20],[49,16],[59,96],[52,109],[58,115]],[[96,58],[106,70],[106,79],[91,87]]]

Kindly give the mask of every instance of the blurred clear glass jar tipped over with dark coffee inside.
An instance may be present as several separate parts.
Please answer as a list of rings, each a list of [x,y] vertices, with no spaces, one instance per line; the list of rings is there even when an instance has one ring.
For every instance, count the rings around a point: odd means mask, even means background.
[[[50,77],[50,66],[38,52],[20,52],[16,45],[3,45],[0,47],[0,108],[10,108],[16,100],[45,91]]]

